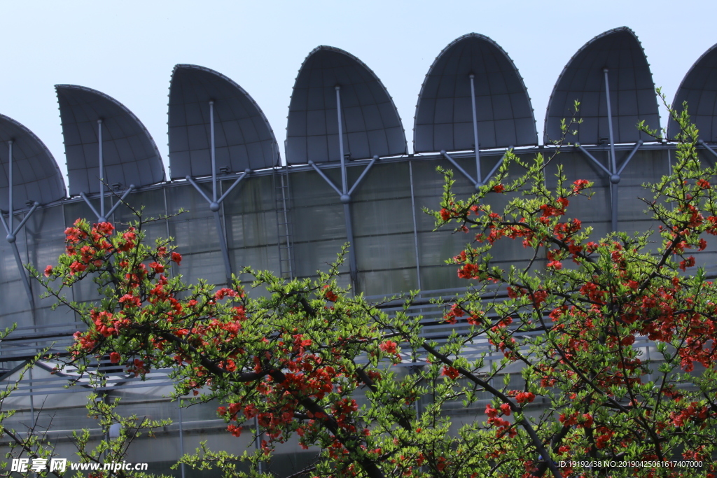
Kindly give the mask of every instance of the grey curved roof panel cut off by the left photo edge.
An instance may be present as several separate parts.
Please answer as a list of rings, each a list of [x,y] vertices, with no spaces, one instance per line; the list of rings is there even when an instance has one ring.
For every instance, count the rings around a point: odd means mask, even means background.
[[[47,204],[65,199],[65,181],[47,146],[20,123],[0,115],[0,209],[9,209],[10,140],[14,209],[22,209],[27,201]]]

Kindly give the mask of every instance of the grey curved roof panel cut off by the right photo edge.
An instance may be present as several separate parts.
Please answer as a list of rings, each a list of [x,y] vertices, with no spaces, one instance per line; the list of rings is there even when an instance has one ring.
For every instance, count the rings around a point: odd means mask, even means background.
[[[685,75],[675,95],[675,110],[682,111],[685,101],[700,138],[717,143],[717,44],[699,57]],[[677,123],[670,119],[668,137],[674,138],[677,133]]]

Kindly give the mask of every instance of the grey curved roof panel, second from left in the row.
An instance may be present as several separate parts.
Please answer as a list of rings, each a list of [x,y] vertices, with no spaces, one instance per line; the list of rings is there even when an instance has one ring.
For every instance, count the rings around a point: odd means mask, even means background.
[[[77,85],[55,85],[65,137],[70,196],[99,193],[98,120],[103,120],[105,181],[127,188],[164,181],[159,150],[147,128],[122,103]]]

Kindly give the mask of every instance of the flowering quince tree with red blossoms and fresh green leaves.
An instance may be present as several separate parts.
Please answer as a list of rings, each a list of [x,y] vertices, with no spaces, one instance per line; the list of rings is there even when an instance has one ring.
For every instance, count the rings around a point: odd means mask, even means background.
[[[295,477],[713,477],[717,290],[690,251],[717,234],[716,171],[700,165],[686,113],[673,117],[684,129],[678,161],[645,200],[658,231],[593,238],[569,216],[591,183],[559,169],[549,188],[541,156],[511,156],[525,176],[508,183],[505,164],[465,200],[446,172],[434,214],[473,239],[450,259],[472,286],[442,302],[462,332],[440,346],[409,315],[412,299],[388,315],[338,287],[341,259],[316,280],[252,272],[267,293],[250,298],[237,279],[216,288],[172,277],[181,256],[171,242],[146,244],[141,221],[125,231],[77,221],[59,264],[37,278],[87,325],[70,351],[81,371],[101,357],[142,377],[171,368],[176,396],[218,402],[229,433],[257,420],[255,454],[183,459],[227,477],[262,476],[292,436],[317,453]],[[493,211],[498,194],[512,199]],[[527,265],[494,264],[493,247],[516,240]],[[86,279],[101,300],[64,298]],[[470,347],[483,338],[501,360]],[[654,348],[650,360],[636,339]],[[393,366],[402,362],[414,366]],[[485,415],[451,428],[456,401]]]

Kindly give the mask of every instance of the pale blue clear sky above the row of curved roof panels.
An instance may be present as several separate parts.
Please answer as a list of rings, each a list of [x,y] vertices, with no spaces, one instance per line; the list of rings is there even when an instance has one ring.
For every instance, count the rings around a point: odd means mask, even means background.
[[[394,97],[412,146],[417,95],[436,55],[469,32],[488,35],[523,76],[538,125],[562,68],[585,42],[630,27],[655,85],[672,100],[717,43],[713,1],[0,1],[0,113],[34,131],[65,171],[53,85],[100,90],[146,125],[167,162],[166,112],[176,63],[232,78],[285,139],[291,88],[319,44],[345,49]],[[663,115],[664,125],[664,115]]]

